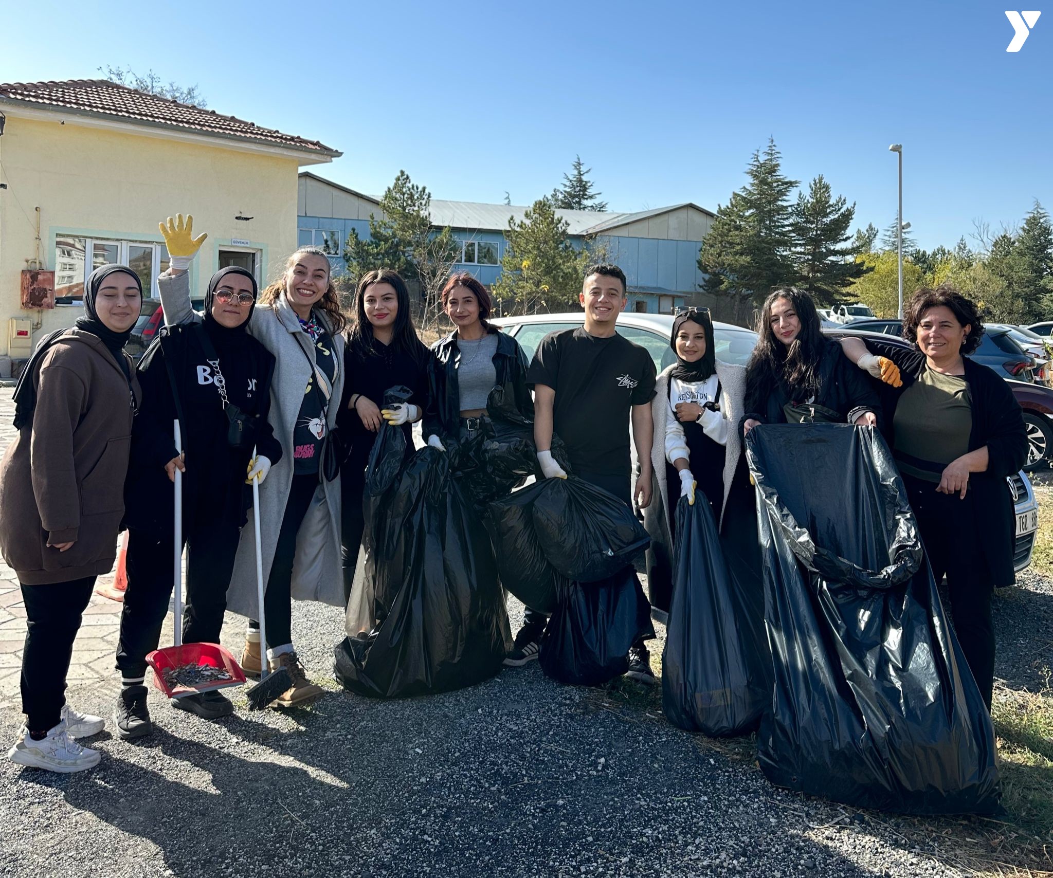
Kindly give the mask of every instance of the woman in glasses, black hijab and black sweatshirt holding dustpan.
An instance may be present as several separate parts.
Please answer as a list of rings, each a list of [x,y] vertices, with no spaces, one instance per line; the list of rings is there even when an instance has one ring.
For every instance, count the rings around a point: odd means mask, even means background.
[[[217,643],[252,503],[246,475],[262,481],[281,458],[267,421],[275,359],[245,332],[256,292],[256,279],[244,268],[217,272],[205,293],[204,320],[168,326],[139,363],[143,404],[132,432],[125,485],[128,586],[117,650],[121,692],[114,711],[124,739],[153,731],[144,678],[146,655],[158,646],[172,596],[176,470],[183,474],[182,536],[190,546],[183,642]],[[175,447],[176,420],[181,455]],[[219,692],[172,704],[206,719],[233,711]]]

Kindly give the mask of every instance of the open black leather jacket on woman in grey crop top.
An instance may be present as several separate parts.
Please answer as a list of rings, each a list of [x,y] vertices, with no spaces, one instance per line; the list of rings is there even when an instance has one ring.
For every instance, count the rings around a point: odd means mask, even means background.
[[[513,400],[519,414],[534,420],[534,399],[526,387],[526,355],[512,336],[496,326],[488,333],[497,333],[497,353],[494,368],[495,386],[504,391],[504,399]],[[460,433],[460,388],[457,384],[457,331],[432,345],[432,364],[429,370],[428,408],[422,428],[426,439],[433,433],[440,439],[456,439]]]

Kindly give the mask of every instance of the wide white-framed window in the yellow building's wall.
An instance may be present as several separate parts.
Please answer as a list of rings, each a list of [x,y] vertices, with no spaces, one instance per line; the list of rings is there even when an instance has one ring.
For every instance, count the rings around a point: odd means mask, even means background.
[[[158,298],[157,276],[168,268],[168,250],[152,241],[58,235],[55,238],[55,303],[83,304],[88,275],[108,262],[127,265],[142,281],[143,293]]]

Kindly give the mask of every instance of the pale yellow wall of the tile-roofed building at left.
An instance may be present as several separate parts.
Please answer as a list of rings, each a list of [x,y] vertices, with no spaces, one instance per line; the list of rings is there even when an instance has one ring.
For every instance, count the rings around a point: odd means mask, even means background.
[[[42,333],[72,325],[83,313],[79,304],[40,312],[20,307],[20,273],[26,261],[39,254],[43,266],[54,270],[56,239],[64,235],[156,243],[163,240],[160,220],[179,212],[193,214],[195,233],[208,233],[192,268],[193,288],[202,295],[221,248],[254,252],[261,283],[280,273],[284,258],[296,250],[299,161],[294,156],[4,112],[0,355],[7,353],[8,318],[32,318],[36,342]]]

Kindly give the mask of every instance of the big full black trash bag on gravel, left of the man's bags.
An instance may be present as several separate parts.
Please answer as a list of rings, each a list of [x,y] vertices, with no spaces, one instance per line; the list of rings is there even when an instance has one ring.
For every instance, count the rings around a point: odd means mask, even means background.
[[[446,455],[419,450],[391,491],[385,526],[399,534],[385,535],[375,557],[366,553],[366,579],[382,578],[390,602],[369,632],[351,630],[358,626],[349,608],[337,679],[351,692],[394,698],[493,677],[512,645],[504,594],[490,537]]]

